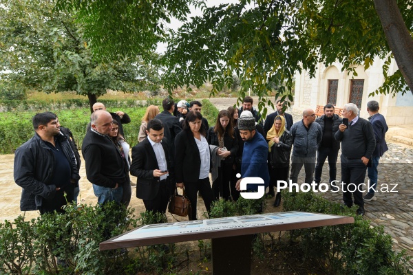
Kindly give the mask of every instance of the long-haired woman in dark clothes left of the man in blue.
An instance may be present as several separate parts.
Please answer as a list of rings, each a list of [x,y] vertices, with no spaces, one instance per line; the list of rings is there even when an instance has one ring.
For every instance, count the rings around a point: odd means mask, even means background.
[[[235,135],[229,111],[222,110],[218,113],[215,126],[208,130],[207,140],[210,145],[219,147],[217,155],[221,158],[218,178],[212,183],[213,195],[217,199],[220,196],[224,199],[231,199],[229,186],[231,185],[231,189],[235,190],[236,181],[231,182],[231,173],[238,151],[238,139]]]

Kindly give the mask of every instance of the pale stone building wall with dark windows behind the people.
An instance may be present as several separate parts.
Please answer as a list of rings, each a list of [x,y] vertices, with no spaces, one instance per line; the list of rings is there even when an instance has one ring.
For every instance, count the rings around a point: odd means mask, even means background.
[[[361,118],[368,118],[367,102],[377,100],[380,106],[380,113],[383,114],[388,122],[388,125],[413,124],[413,95],[401,93],[396,96],[374,94],[369,96],[377,88],[383,84],[384,76],[382,74],[383,61],[379,58],[374,60],[373,65],[364,70],[363,66],[359,65],[356,68],[357,75],[352,72],[342,71],[340,63],[333,63],[329,67],[319,64],[319,68],[315,74],[315,78],[303,71],[302,74],[296,74],[295,82],[295,100],[293,109],[295,111],[304,111],[304,109],[315,109],[317,105],[325,105],[328,96],[328,80],[338,80],[337,87],[337,107],[343,107],[350,100],[350,87],[352,79],[363,79],[363,96],[361,99]],[[397,65],[392,61],[390,72],[396,72]]]

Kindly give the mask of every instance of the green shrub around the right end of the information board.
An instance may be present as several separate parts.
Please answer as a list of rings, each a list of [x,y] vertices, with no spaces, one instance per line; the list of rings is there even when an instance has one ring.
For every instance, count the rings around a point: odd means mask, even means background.
[[[408,274],[405,252],[394,252],[392,239],[383,227],[372,227],[355,215],[355,208],[342,207],[313,192],[283,192],[284,210],[339,214],[354,217],[354,223],[293,230],[292,239],[307,256],[328,263],[329,274]]]

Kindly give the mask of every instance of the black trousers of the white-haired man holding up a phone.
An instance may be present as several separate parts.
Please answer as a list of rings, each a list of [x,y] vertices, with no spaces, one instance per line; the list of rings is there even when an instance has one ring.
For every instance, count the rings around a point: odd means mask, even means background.
[[[361,159],[347,159],[341,155],[341,181],[343,181],[343,201],[347,206],[364,206],[362,183],[366,177],[367,166]],[[335,184],[338,186],[338,184]]]

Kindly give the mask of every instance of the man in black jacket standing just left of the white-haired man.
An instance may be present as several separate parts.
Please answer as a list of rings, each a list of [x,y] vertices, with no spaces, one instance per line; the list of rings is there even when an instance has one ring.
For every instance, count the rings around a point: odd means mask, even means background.
[[[317,151],[317,164],[315,165],[314,181],[319,184],[321,181],[321,173],[323,172],[323,165],[328,158],[328,166],[330,166],[330,179],[328,183],[336,180],[337,175],[337,156],[339,155],[340,142],[335,140],[334,135],[339,131],[339,126],[343,119],[334,113],[334,105],[326,104],[324,106],[324,115],[317,118],[315,122],[320,124],[323,129],[323,137],[321,144]]]

